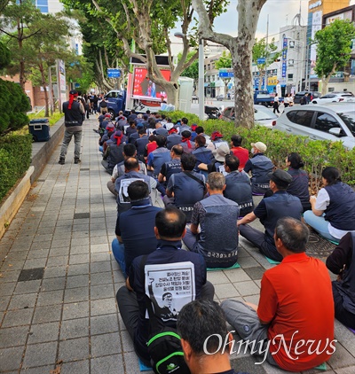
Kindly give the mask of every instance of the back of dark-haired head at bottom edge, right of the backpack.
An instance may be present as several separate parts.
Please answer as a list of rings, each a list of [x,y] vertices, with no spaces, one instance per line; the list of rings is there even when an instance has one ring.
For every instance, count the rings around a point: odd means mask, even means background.
[[[220,344],[219,337],[232,341],[233,335],[228,332],[225,314],[216,301],[194,300],[186,304],[177,317],[177,332],[191,374],[237,374],[229,362],[228,346]]]

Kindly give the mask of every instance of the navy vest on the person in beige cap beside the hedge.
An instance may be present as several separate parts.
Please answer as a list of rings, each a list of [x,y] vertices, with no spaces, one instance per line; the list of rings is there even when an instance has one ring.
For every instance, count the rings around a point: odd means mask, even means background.
[[[250,162],[253,165],[251,168],[251,184],[253,186],[253,192],[266,192],[266,190],[270,188],[270,178],[267,175],[272,173],[272,160],[268,159],[262,153],[257,153],[252,159],[250,159]]]

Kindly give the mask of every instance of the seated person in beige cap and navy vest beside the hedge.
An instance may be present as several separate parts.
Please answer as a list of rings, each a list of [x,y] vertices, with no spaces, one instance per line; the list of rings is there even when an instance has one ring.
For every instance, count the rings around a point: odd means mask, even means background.
[[[244,167],[244,171],[251,172],[251,186],[253,188],[254,195],[264,195],[269,189],[269,177],[268,174],[272,172],[273,164],[272,160],[264,156],[266,152],[266,145],[262,142],[256,142],[251,144],[253,157],[247,161]]]

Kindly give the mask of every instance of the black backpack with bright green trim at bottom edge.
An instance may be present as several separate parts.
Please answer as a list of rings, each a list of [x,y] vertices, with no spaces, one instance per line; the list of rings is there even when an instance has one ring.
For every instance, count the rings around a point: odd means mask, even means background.
[[[146,257],[140,262],[140,273],[145,279]],[[160,318],[155,316],[152,302],[146,296],[146,308],[149,315],[149,338],[146,343],[151,364],[155,374],[190,374],[184,359],[180,336],[177,329],[166,326]]]

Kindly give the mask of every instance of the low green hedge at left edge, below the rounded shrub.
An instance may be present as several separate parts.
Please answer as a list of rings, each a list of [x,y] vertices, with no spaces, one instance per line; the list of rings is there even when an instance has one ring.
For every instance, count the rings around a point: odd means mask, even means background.
[[[0,137],[0,201],[22,177],[31,163],[32,136]]]

